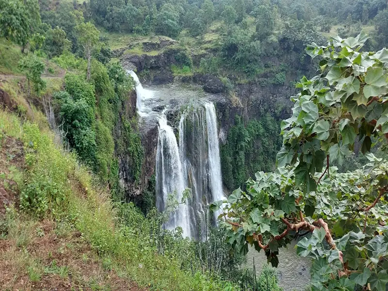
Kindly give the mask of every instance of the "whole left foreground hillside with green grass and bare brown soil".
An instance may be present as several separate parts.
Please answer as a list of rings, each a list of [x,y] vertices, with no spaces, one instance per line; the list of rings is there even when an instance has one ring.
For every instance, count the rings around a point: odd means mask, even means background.
[[[10,51],[16,63],[22,54]],[[113,202],[107,184],[63,148],[42,112],[43,98],[64,88],[63,69],[45,73],[45,91],[28,97],[25,77],[5,63],[12,74],[0,81],[1,290],[238,290],[201,272],[197,243],[162,234],[156,210],[146,218]]]

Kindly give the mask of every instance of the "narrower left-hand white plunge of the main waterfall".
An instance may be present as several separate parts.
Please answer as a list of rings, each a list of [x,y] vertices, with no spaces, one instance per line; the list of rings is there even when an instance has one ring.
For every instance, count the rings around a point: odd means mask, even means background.
[[[167,125],[167,119],[164,114],[159,118],[159,137],[156,153],[156,190],[156,204],[159,210],[165,210],[168,206],[168,194],[175,194],[178,202],[182,200],[184,181],[177,139],[173,129]],[[187,204],[180,204],[178,210],[170,215],[165,226],[168,229],[175,229],[177,226],[181,226],[183,236],[190,236],[188,224]]]

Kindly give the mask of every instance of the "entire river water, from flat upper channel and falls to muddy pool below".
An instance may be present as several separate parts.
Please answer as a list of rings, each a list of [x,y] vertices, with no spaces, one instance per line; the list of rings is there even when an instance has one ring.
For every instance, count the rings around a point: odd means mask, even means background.
[[[136,74],[137,108],[140,128],[159,128],[156,155],[156,202],[164,210],[167,194],[175,192],[181,199],[182,191],[192,189],[192,198],[170,216],[166,227],[181,226],[184,236],[201,239],[201,231],[209,217],[207,205],[223,199],[219,133],[213,103],[225,102],[222,95],[212,95],[192,87],[179,85],[149,86],[144,88]],[[308,259],[296,255],[291,245],[279,250],[279,280],[285,291],[303,291],[309,282]],[[253,266],[257,275],[266,264],[263,252],[253,248],[247,254],[247,267]]]

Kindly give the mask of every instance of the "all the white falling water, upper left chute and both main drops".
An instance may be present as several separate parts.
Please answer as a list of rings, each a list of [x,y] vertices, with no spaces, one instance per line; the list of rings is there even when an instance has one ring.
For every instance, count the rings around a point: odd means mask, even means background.
[[[182,200],[185,188],[192,189],[192,197],[185,204],[179,204],[164,225],[168,229],[182,227],[183,235],[202,239],[209,217],[208,204],[224,199],[222,191],[221,164],[217,135],[217,119],[212,103],[198,104],[182,113],[179,122],[179,147],[177,137],[167,124],[165,110],[152,112],[146,106],[146,99],[155,91],[144,89],[137,75],[127,71],[136,82],[136,106],[141,116],[156,114],[159,121],[158,146],[156,153],[156,205],[165,210],[168,196],[173,194],[178,202]],[[201,103],[201,102],[199,102]]]

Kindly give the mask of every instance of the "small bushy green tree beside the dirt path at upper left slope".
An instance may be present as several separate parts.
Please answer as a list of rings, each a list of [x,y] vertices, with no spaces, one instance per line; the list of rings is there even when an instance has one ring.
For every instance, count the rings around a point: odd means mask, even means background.
[[[32,82],[33,90],[37,95],[46,88],[46,82],[42,80],[41,75],[45,70],[45,65],[39,58],[33,54],[29,54],[19,62],[19,67],[26,73],[28,96],[31,95],[30,82]]]

